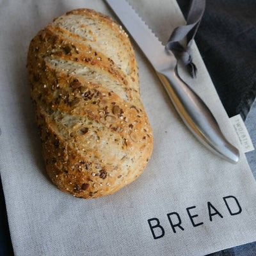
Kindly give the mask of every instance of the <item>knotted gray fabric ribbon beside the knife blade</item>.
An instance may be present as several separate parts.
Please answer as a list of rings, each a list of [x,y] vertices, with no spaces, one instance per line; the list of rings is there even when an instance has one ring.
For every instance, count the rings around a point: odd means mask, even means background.
[[[205,10],[205,0],[191,0],[188,12],[187,24],[175,28],[170,36],[166,48],[173,52],[175,57],[188,68],[191,77],[196,77],[196,65],[193,63],[191,44],[202,19]],[[186,47],[180,44],[186,38]]]

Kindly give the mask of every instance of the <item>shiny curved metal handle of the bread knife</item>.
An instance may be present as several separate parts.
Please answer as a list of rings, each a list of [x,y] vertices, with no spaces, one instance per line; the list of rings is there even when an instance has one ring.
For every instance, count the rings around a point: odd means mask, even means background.
[[[196,138],[220,157],[231,163],[237,163],[239,150],[227,141],[202,99],[179,77],[177,66],[157,72],[157,75],[182,120]]]

